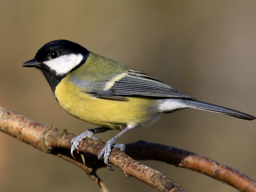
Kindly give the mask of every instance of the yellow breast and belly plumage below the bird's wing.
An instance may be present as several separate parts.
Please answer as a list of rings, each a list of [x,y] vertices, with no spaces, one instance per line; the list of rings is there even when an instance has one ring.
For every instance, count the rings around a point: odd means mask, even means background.
[[[69,114],[112,129],[121,129],[128,124],[150,124],[158,117],[156,100],[137,97],[127,97],[128,101],[101,99],[81,92],[68,78],[61,80],[54,94]]]

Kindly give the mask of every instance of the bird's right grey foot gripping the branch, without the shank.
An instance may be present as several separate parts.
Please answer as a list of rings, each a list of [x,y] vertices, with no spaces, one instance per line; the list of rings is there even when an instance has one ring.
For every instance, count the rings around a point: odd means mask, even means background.
[[[107,165],[108,169],[110,169],[111,171],[113,171],[113,169],[111,168],[112,164],[108,162],[108,158],[109,158],[112,148],[120,149],[120,151],[122,151],[122,152],[125,151],[124,144],[115,144],[113,141],[108,140],[106,142],[105,147],[101,150],[100,155],[98,156],[99,160],[103,158],[104,163]]]

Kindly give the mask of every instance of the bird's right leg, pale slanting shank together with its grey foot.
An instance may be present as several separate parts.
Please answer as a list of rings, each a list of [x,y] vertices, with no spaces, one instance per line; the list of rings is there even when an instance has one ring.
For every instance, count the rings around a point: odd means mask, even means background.
[[[110,164],[108,162],[108,158],[110,155],[110,152],[112,150],[112,148],[118,148],[120,149],[120,151],[124,152],[125,151],[125,147],[124,144],[115,144],[116,140],[118,140],[122,135],[124,135],[126,132],[128,132],[129,130],[131,130],[133,127],[132,126],[127,126],[126,128],[124,128],[121,132],[119,132],[115,137],[113,137],[112,139],[108,140],[106,142],[105,147],[101,150],[100,155],[98,156],[98,159],[104,159],[104,163],[107,165],[108,169],[110,169],[111,171],[113,171],[113,169],[111,169],[112,164]]]

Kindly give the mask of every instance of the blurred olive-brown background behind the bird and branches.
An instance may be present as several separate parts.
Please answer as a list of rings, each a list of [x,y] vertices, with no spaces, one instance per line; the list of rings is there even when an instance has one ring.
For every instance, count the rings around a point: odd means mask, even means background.
[[[256,115],[256,2],[0,1],[0,106],[79,134],[95,125],[68,115],[39,70],[20,65],[55,39],[129,65],[199,100]],[[256,179],[256,121],[186,109],[127,133],[190,150]],[[105,140],[117,131],[98,135]],[[0,191],[99,191],[83,171],[0,132]],[[196,172],[142,162],[190,192],[235,189]],[[111,191],[155,191],[115,168]]]

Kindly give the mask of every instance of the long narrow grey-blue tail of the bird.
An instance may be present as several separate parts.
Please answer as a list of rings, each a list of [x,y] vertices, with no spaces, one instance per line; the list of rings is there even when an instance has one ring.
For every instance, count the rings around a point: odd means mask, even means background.
[[[203,109],[203,110],[207,110],[207,111],[213,111],[213,112],[217,112],[217,113],[223,113],[226,115],[230,115],[230,116],[234,116],[240,119],[245,119],[245,120],[253,120],[256,119],[256,117],[240,112],[240,111],[236,111],[234,109],[230,109],[230,108],[225,108],[225,107],[221,107],[218,105],[213,105],[210,103],[205,103],[202,101],[196,101],[196,100],[186,100],[186,105],[187,107],[190,108],[197,108],[197,109]]]

